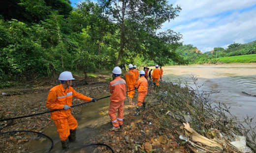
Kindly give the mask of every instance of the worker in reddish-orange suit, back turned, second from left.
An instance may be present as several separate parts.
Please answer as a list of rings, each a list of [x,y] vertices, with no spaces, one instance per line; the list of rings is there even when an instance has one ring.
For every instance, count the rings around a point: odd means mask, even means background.
[[[109,83],[109,92],[112,95],[110,96],[111,102],[108,108],[108,114],[113,124],[111,131],[123,126],[124,102],[126,99],[126,81],[120,77],[122,74],[121,68],[115,67],[112,73],[115,79]],[[118,110],[117,117],[116,110]]]

